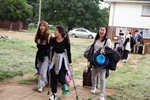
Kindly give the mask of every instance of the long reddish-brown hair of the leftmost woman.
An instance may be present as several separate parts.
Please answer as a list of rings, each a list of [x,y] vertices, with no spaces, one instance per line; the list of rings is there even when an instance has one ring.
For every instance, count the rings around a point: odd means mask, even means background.
[[[40,26],[41,25],[44,25],[45,26],[45,31],[43,33],[43,35],[41,35],[41,30],[40,30]],[[48,34],[50,34],[52,36],[52,34],[48,31],[48,25],[47,25],[47,22],[46,21],[41,21],[40,24],[39,24],[39,27],[38,27],[38,30],[37,30],[37,33],[35,35],[35,42],[38,43],[38,39],[40,39],[40,43],[42,43],[44,40],[47,41],[48,39]]]

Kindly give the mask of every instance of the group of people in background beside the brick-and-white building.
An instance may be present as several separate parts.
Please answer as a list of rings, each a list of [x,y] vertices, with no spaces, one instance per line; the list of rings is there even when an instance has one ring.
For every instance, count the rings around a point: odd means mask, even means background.
[[[134,32],[134,37],[131,35],[129,29],[126,30],[126,34],[120,30],[118,36],[118,42],[114,43],[114,49],[116,49],[122,58],[122,62],[127,62],[127,58],[130,52],[138,53],[140,44],[144,45],[143,32],[138,33],[138,30]]]

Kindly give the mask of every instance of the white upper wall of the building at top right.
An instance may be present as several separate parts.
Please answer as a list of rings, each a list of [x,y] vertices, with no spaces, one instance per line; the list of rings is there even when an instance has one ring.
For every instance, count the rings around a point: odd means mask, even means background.
[[[115,5],[113,26],[132,27],[132,28],[150,28],[150,17],[141,17],[142,6],[149,5],[140,3],[119,3]],[[112,26],[114,3],[111,3],[109,26]]]

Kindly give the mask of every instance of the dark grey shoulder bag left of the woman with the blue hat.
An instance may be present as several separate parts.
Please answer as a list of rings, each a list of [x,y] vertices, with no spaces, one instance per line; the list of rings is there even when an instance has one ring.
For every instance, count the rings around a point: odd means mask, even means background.
[[[94,45],[95,45],[95,43],[96,43],[96,40],[94,40],[94,42],[90,46],[88,46],[87,49],[84,51],[84,57],[88,61],[90,61],[90,59],[91,59],[91,57],[92,57],[92,55],[94,53]]]

